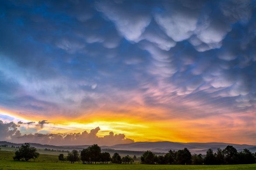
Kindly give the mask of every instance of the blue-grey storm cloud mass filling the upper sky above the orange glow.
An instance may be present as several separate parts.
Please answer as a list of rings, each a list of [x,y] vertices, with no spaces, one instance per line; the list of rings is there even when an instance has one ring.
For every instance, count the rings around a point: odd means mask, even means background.
[[[1,1],[0,106],[255,112],[255,16],[249,0]]]

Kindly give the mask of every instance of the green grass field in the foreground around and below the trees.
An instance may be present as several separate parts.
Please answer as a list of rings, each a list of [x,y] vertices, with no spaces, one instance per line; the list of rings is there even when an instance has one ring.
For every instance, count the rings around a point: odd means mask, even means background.
[[[256,170],[250,165],[142,165],[142,164],[94,164],[56,162],[58,156],[40,154],[38,159],[28,162],[14,161],[14,152],[0,151],[0,170]]]

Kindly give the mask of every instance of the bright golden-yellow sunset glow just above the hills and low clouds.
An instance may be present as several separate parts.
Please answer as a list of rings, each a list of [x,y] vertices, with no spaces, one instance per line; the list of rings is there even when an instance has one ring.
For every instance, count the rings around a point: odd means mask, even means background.
[[[14,122],[22,120],[25,122],[35,121],[28,118],[22,118],[15,113],[0,110],[0,114],[4,116],[10,116],[14,118]],[[16,117],[17,116],[17,117]],[[37,119],[37,118],[34,118]],[[97,121],[95,121],[97,119]],[[38,119],[37,119],[38,120]],[[226,142],[226,143],[248,143],[247,139],[237,140],[237,136],[232,138],[225,138],[226,135],[232,130],[239,131],[238,127],[229,129],[230,131],[223,130],[223,123],[228,123],[228,119],[222,119],[217,122],[215,119],[209,120],[208,124],[205,123],[205,119],[201,120],[178,120],[178,119],[166,119],[166,120],[142,120],[142,119],[118,119],[112,118],[111,120],[105,120],[104,117],[95,117],[93,119],[83,119],[84,121],[73,121],[71,119],[47,119],[49,124],[45,124],[43,129],[40,129],[39,133],[81,133],[87,131],[90,133],[91,129],[100,127],[100,131],[97,136],[103,137],[108,135],[111,131],[114,134],[125,134],[126,138],[134,139],[135,142],[140,141],[172,141],[172,142]],[[93,120],[93,121],[92,121]],[[244,122],[236,122],[243,125]],[[219,128],[216,128],[218,127]],[[213,128],[214,127],[214,128]],[[230,135],[229,135],[230,136]]]

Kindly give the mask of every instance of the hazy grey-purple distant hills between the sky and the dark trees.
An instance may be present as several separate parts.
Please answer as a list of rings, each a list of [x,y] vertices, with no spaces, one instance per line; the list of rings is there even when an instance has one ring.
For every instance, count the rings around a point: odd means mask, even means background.
[[[80,145],[80,146],[54,146],[54,145],[42,145],[39,143],[30,143],[31,146],[34,146],[38,149],[53,149],[53,150],[82,150],[83,148],[87,148],[90,145]],[[8,146],[21,146],[21,143],[10,143],[6,141],[0,141],[0,145],[8,145]],[[136,155],[140,156],[146,150],[151,150],[152,152],[156,153],[157,155],[162,155],[163,153],[168,152],[169,150],[181,150],[183,148],[187,148],[190,152],[193,153],[202,153],[205,154],[206,151],[211,148],[214,152],[217,148],[224,149],[226,146],[232,145],[238,151],[243,149],[249,149],[251,152],[256,152],[255,145],[246,145],[246,144],[233,144],[233,143],[177,143],[177,142],[135,142],[135,143],[128,143],[128,144],[118,144],[113,146],[101,146],[101,149],[104,152],[109,152],[114,154],[115,152],[121,155]]]

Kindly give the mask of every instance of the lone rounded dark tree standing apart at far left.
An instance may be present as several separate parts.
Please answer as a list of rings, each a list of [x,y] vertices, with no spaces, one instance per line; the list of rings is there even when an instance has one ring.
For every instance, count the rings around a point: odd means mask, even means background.
[[[38,158],[39,153],[36,152],[35,147],[30,146],[29,143],[24,143],[19,147],[19,150],[15,152],[14,160],[25,160]]]

